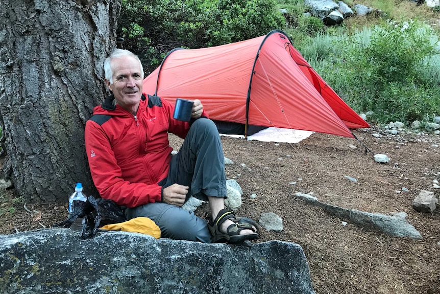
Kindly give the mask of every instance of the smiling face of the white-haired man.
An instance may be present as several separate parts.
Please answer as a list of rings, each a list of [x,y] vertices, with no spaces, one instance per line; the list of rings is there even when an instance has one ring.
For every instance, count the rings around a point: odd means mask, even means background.
[[[113,92],[116,103],[136,112],[142,96],[142,73],[139,61],[130,56],[114,58],[111,61],[113,84],[106,80],[107,87]]]

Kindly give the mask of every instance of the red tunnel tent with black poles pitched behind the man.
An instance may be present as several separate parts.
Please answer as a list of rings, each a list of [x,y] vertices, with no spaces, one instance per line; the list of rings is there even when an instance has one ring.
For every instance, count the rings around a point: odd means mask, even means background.
[[[279,30],[223,46],[175,49],[143,81],[143,92],[175,103],[199,99],[223,133],[249,126],[353,137],[370,127],[318,75]]]

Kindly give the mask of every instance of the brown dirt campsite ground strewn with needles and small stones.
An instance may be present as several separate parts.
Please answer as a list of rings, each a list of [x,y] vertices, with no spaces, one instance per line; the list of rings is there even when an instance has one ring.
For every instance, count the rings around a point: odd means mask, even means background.
[[[227,177],[235,178],[244,192],[237,214],[256,220],[265,212],[279,215],[283,231],[263,229],[257,241],[300,244],[316,293],[440,293],[440,209],[437,206],[429,214],[411,206],[421,190],[440,196],[432,182],[440,180],[440,137],[386,136],[385,132],[373,137],[378,132],[375,128],[354,131],[374,153],[386,154],[388,164],[375,163],[356,140],[334,135],[313,133],[292,145],[222,137],[225,156],[235,163],[226,166]],[[170,142],[178,147],[181,140],[172,137]],[[322,202],[349,209],[405,212],[423,239],[392,237],[349,221],[344,226],[347,220],[294,198],[295,192],[313,193]],[[251,200],[253,193],[257,198]],[[0,203],[0,207],[8,205],[14,205],[15,212],[0,216],[0,234],[51,227],[66,217],[66,207],[55,203]]]

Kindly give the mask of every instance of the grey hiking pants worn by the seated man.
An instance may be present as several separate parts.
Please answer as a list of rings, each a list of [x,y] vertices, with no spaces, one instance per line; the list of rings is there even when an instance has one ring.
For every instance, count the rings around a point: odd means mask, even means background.
[[[223,147],[215,124],[198,119],[190,127],[179,153],[169,164],[168,176],[160,186],[189,186],[186,200],[193,195],[207,201],[208,196],[226,197]],[[161,230],[161,237],[178,240],[211,242],[208,222],[193,212],[168,203],[148,203],[126,209],[127,219],[143,216],[152,219]]]

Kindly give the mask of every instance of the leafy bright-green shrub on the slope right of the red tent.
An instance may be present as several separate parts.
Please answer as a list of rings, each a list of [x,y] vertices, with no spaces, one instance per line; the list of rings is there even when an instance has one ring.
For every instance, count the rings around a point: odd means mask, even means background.
[[[440,105],[438,87],[421,74],[437,52],[430,37],[432,31],[419,21],[365,29],[345,39],[335,64],[339,74],[326,78],[350,106],[374,111],[379,122],[423,120]],[[330,73],[329,66],[323,66],[324,73]]]

